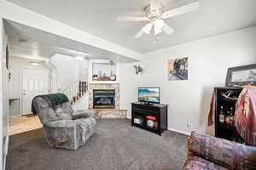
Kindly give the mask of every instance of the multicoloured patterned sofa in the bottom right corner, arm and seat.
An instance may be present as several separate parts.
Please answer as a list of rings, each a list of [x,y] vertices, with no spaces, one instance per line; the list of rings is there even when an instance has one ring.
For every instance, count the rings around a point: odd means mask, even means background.
[[[192,133],[183,170],[256,170],[256,147]]]

